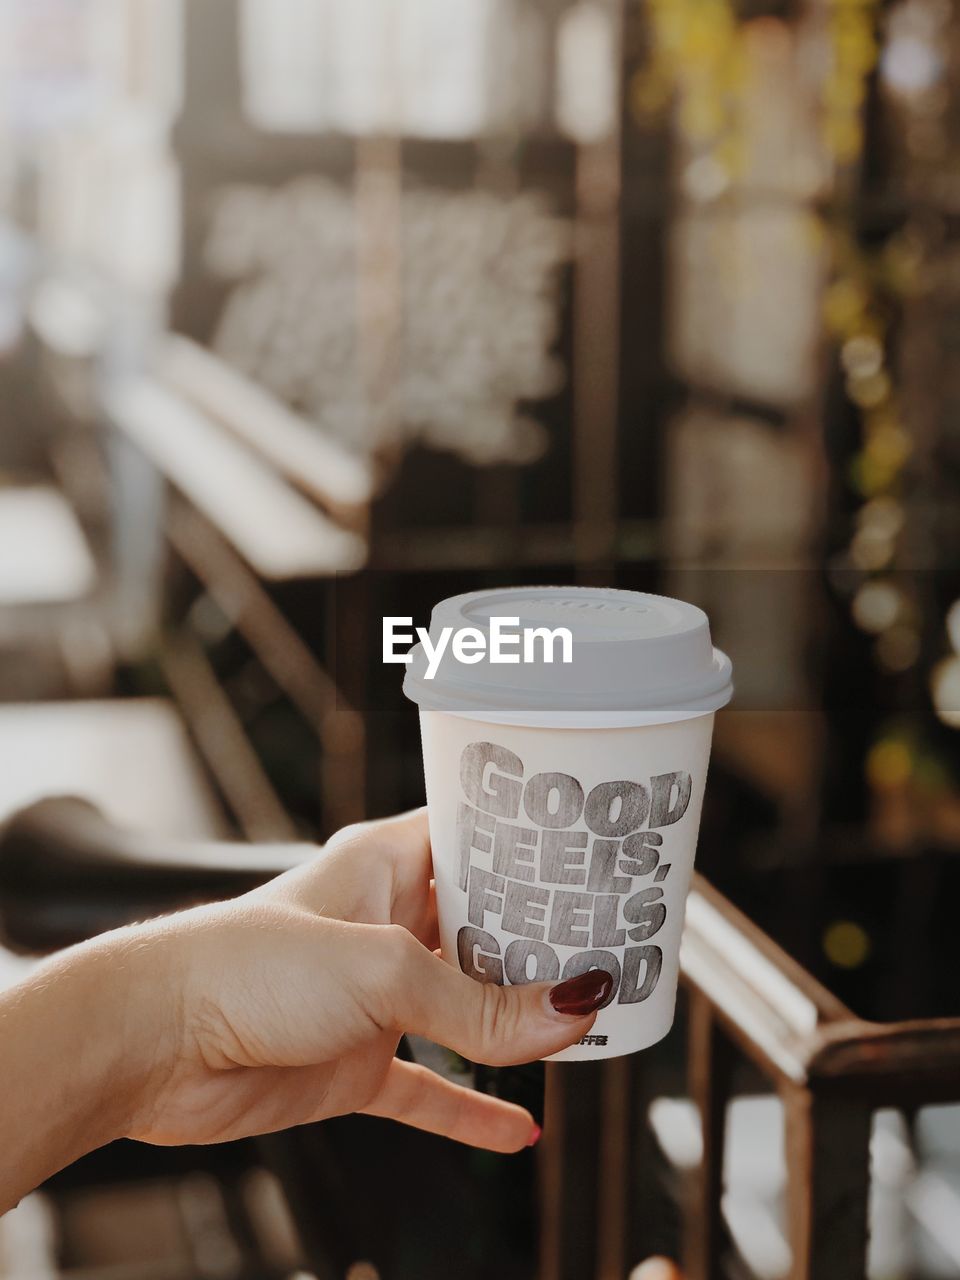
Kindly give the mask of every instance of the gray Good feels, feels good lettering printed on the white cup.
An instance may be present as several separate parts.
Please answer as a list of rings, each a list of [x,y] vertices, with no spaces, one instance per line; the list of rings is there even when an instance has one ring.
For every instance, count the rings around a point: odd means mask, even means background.
[[[609,1001],[646,1000],[663,964],[649,940],[667,920],[660,884],[671,868],[658,828],[686,813],[690,774],[600,782],[585,792],[568,773],[525,778],[516,753],[471,742],[460,781],[457,883],[468,922],[457,934],[461,969],[515,984],[607,969]],[[490,928],[515,937],[502,947]],[[557,947],[577,948],[562,974]]]

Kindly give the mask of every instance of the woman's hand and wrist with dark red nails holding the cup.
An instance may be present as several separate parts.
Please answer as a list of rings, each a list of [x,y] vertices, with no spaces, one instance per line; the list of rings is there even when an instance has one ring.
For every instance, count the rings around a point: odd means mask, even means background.
[[[45,1073],[69,1068],[26,1135],[40,1176],[114,1137],[224,1142],[348,1111],[522,1148],[536,1135],[527,1111],[394,1059],[399,1036],[480,1062],[531,1061],[590,1028],[609,975],[552,988],[474,982],[434,954],[430,876],[421,810],[351,827],[243,897],[56,956],[0,1000],[0,1073],[10,1066],[14,1080],[0,1151],[15,1158],[18,1068],[38,1098]],[[5,1028],[19,1046],[1,1039]],[[37,1162],[58,1098],[61,1149]]]

